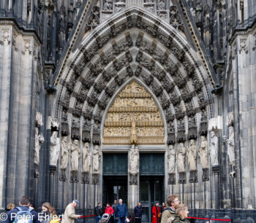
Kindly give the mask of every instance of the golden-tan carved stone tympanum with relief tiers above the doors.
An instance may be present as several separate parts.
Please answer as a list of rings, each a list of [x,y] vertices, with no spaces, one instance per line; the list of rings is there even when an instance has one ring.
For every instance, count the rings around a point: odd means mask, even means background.
[[[137,82],[127,85],[110,107],[103,144],[129,144],[132,134],[136,135],[138,144],[165,144],[159,109],[151,95]]]

